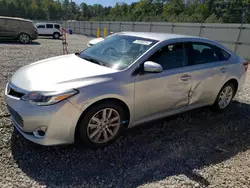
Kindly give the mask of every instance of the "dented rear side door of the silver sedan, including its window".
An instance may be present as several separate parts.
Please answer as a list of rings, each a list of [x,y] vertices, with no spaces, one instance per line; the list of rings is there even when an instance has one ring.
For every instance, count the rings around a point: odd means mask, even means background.
[[[185,43],[188,54],[187,67],[192,78],[189,106],[212,104],[227,79],[226,52],[217,46],[201,43]]]

